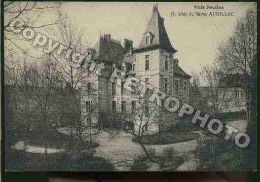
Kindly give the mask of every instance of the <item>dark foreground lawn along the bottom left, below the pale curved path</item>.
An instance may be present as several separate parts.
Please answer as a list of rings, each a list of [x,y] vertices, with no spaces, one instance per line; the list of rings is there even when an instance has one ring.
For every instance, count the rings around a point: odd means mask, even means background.
[[[9,149],[5,165],[8,171],[115,170],[113,164],[101,157],[90,157],[88,154],[73,158],[67,158],[66,156],[64,152],[48,154],[47,165],[45,165],[44,154]]]

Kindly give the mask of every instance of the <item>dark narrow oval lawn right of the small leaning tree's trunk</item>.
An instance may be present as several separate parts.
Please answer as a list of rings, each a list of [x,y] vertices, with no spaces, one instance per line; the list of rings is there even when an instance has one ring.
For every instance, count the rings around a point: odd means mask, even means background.
[[[200,137],[198,133],[192,133],[188,131],[183,132],[167,132],[159,135],[159,133],[154,133],[150,135],[144,135],[142,138],[143,144],[170,144],[179,143],[185,141],[191,141]],[[137,142],[135,138],[132,139],[133,142]]]

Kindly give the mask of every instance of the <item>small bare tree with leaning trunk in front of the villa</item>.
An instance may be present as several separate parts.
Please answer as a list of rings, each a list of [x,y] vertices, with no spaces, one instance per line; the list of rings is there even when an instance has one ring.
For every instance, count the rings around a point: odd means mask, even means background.
[[[121,104],[121,111],[112,108],[112,111],[109,111],[107,114],[108,122],[111,126],[108,132],[113,132],[116,125],[116,128],[120,131],[130,133],[134,136],[134,140],[140,145],[146,157],[154,162],[154,159],[148,153],[143,143],[143,136],[153,132],[149,129],[152,125],[160,127],[158,120],[159,106],[156,102],[151,101],[151,90],[147,90],[144,97],[140,97],[140,89],[135,89],[135,91],[135,99],[131,103],[126,104],[123,102]],[[114,126],[113,123],[115,123]],[[119,127],[117,127],[118,125]],[[113,134],[116,135],[117,132]]]

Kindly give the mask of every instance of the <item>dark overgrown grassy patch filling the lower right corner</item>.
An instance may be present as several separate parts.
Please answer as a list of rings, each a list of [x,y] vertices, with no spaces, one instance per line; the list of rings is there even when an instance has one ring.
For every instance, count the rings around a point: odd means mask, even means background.
[[[248,149],[242,149],[223,138],[198,142],[198,148],[194,153],[201,161],[197,170],[252,170],[250,146]]]

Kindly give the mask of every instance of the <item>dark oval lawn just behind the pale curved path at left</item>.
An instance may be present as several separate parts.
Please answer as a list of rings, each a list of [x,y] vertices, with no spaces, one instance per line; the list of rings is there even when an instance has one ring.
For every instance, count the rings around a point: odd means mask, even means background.
[[[66,149],[69,145],[69,135],[60,133],[54,130],[32,130],[26,134],[26,136],[22,140],[26,140],[28,144],[36,146],[36,147],[45,147],[44,146],[44,133],[46,134],[47,147],[53,149]],[[73,139],[72,143],[77,143],[77,138]],[[81,142],[81,146],[83,149],[96,148],[99,146],[98,143],[83,141]]]

